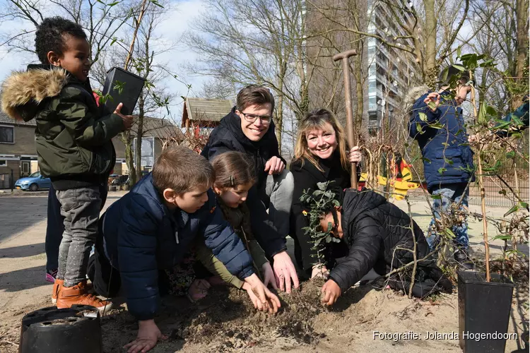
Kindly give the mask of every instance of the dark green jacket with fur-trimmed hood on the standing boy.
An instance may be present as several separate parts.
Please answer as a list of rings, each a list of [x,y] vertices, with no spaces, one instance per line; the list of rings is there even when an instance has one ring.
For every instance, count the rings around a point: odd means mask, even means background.
[[[36,119],[40,171],[57,190],[93,186],[114,167],[112,138],[122,118],[101,116],[90,88],[62,68],[28,66],[4,81],[2,109],[13,119]]]

